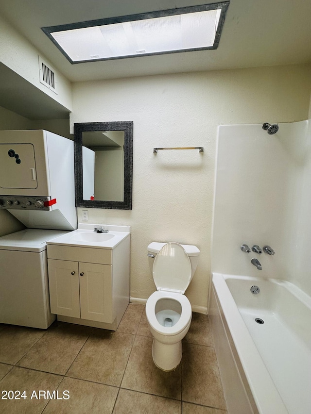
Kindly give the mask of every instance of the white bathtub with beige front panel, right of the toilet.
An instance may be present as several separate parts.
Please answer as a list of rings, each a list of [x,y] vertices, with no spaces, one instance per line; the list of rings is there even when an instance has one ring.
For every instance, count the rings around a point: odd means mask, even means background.
[[[311,413],[309,296],[285,281],[213,273],[209,318],[229,414]]]

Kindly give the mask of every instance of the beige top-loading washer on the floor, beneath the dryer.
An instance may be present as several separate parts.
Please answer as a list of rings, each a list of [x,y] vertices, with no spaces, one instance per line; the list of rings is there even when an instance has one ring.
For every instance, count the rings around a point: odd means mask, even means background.
[[[25,229],[0,237],[0,323],[47,329],[55,320],[46,242],[65,233]]]

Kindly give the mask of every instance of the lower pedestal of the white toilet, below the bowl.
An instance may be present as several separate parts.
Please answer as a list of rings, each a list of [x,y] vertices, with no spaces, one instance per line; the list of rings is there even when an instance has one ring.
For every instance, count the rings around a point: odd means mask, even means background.
[[[181,341],[176,344],[162,344],[154,338],[152,357],[155,365],[162,371],[175,369],[181,361],[182,353]]]

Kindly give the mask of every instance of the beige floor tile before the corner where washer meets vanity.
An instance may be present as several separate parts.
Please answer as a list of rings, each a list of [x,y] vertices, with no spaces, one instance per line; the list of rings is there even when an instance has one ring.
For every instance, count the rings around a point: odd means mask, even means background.
[[[65,375],[93,328],[58,322],[31,348],[19,366]]]

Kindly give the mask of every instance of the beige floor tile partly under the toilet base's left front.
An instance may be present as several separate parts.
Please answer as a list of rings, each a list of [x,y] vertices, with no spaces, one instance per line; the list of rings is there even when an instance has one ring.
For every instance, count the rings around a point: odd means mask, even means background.
[[[152,359],[152,341],[153,339],[147,336],[136,336],[121,387],[181,399],[180,366],[171,372],[157,368]]]

